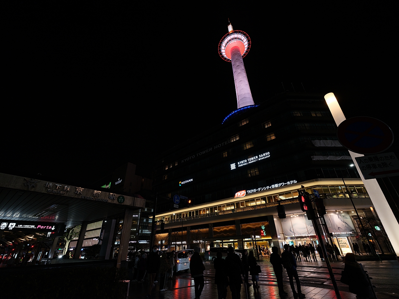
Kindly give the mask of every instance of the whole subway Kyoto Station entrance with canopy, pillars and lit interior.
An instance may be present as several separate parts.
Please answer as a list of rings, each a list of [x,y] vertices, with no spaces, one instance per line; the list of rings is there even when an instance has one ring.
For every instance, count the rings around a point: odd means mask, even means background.
[[[117,257],[119,267],[127,266],[135,211],[144,207],[143,198],[0,173],[0,264],[11,257],[51,263],[67,233],[71,260],[96,243],[98,259]]]

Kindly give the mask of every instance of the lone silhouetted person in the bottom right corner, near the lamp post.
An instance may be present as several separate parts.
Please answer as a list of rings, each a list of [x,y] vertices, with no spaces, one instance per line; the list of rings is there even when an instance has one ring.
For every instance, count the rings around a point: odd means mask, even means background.
[[[347,253],[345,256],[344,272],[349,279],[349,291],[358,295],[358,299],[368,298],[371,290],[369,281],[361,264],[356,262],[356,256],[353,253]]]

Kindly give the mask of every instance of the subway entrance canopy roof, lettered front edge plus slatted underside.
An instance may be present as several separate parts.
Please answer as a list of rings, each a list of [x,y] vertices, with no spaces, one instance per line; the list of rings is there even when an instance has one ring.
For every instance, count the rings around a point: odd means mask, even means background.
[[[145,199],[0,173],[0,219],[65,223],[123,217]]]

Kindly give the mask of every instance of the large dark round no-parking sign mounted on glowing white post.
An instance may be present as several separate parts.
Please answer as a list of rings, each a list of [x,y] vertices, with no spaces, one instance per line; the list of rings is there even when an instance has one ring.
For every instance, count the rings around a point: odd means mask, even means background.
[[[344,120],[338,126],[337,136],[345,148],[363,155],[381,153],[393,143],[393,132],[389,126],[368,116]]]

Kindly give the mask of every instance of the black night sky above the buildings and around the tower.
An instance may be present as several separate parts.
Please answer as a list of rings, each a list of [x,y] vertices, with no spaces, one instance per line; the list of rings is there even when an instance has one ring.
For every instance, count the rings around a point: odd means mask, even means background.
[[[221,123],[237,108],[227,18],[251,38],[256,104],[303,83],[399,134],[393,8],[34,5],[10,10],[3,43],[2,173],[84,187]]]

